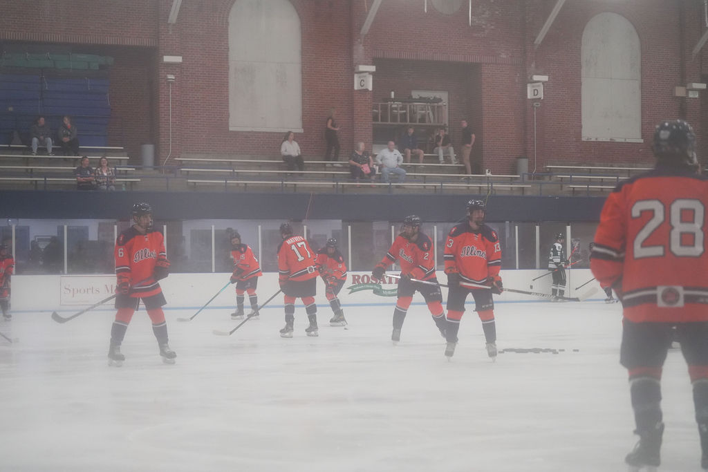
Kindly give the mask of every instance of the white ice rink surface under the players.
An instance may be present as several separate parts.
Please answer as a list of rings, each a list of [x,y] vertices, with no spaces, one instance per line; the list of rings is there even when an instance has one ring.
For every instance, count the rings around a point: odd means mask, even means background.
[[[263,295],[261,295],[263,297]],[[634,421],[619,366],[621,307],[498,303],[498,347],[486,355],[476,313],[455,357],[422,299],[401,343],[394,299],[346,306],[349,329],[282,339],[282,300],[229,338],[232,309],[167,306],[176,365],[161,362],[147,313],[128,329],[122,367],[106,353],[114,311],[65,324],[16,313],[0,332],[1,471],[624,471]],[[345,300],[346,301],[346,300]],[[64,311],[69,316],[72,311]],[[561,351],[564,350],[564,351]],[[577,350],[577,351],[575,351]],[[700,471],[690,382],[680,352],[663,376],[661,471]]]

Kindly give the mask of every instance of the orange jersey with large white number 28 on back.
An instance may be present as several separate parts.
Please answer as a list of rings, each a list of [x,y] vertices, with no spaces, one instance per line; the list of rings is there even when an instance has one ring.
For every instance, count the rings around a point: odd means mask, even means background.
[[[708,180],[657,166],[607,197],[590,268],[630,321],[707,321]]]

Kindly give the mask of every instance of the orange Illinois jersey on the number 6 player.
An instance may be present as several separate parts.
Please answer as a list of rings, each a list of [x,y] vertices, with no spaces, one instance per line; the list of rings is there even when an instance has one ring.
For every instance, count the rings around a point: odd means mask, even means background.
[[[162,233],[148,231],[140,234],[130,226],[115,241],[114,256],[115,276],[119,284],[124,280],[130,283],[130,297],[147,298],[162,292],[153,276],[157,260],[169,265]]]

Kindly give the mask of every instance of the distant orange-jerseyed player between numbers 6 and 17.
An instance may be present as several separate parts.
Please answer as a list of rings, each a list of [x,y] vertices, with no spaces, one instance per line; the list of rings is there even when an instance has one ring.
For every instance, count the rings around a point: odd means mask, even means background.
[[[249,294],[251,302],[250,318],[258,318],[258,277],[261,277],[261,266],[258,259],[253,255],[253,251],[247,244],[241,243],[241,235],[234,231],[231,235],[231,257],[234,260],[234,273],[231,275],[231,283],[236,284],[236,311],[231,313],[234,320],[244,318],[244,292]]]

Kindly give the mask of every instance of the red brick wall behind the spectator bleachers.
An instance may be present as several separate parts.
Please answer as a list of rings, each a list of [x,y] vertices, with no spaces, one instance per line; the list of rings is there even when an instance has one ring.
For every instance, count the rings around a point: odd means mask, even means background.
[[[184,0],[176,25],[167,24],[171,0],[0,1],[0,40],[125,47],[113,50],[111,99],[118,121],[130,122],[124,132],[132,153],[152,138],[161,159],[170,142],[171,156],[278,154],[282,133],[228,129],[227,18],[234,1]],[[559,162],[646,165],[653,161],[653,127],[666,117],[690,120],[700,148],[708,141],[702,123],[707,93],[701,99],[673,96],[675,86],[708,75],[705,48],[695,59],[691,54],[705,30],[701,2],[568,0],[535,47],[553,1],[474,1],[470,26],[466,2],[455,14],[443,15],[432,2],[426,13],[422,1],[387,0],[365,38],[359,32],[371,1],[291,1],[302,24],[304,133],[296,139],[308,156],[324,153],[329,108],[338,108],[348,152],[355,141],[371,141],[372,100],[390,89],[406,95],[412,88],[450,88],[451,103],[462,105],[451,108],[453,137],[459,140],[459,119],[467,115],[478,134],[474,151],[495,173],[513,170],[516,156],[532,158],[534,137],[539,170]],[[639,35],[643,143],[581,139],[581,38],[588,21],[605,11],[627,18]],[[28,17],[38,18],[31,29]],[[164,54],[182,55],[184,62],[162,64]],[[374,62],[375,91],[353,91],[353,66]],[[536,110],[536,134],[534,110],[525,98],[532,73],[550,76]],[[177,77],[171,138],[166,74]]]

